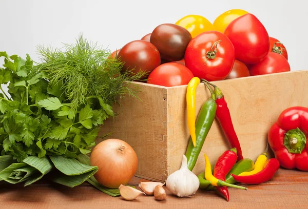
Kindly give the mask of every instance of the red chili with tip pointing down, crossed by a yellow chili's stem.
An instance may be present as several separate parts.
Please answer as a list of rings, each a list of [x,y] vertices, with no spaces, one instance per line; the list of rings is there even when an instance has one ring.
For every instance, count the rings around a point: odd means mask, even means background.
[[[225,151],[218,159],[214,166],[214,177],[225,181],[226,175],[233,168],[237,160],[237,150],[236,148]],[[229,192],[226,186],[217,186],[217,192],[219,192],[223,197],[229,201]]]

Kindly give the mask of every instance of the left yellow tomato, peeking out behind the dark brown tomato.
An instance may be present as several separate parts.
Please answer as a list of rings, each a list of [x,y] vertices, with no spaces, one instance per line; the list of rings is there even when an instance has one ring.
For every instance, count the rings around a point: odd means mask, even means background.
[[[187,15],[179,19],[176,25],[182,26],[188,30],[192,38],[205,31],[214,30],[213,24],[211,24],[205,17],[200,15]]]

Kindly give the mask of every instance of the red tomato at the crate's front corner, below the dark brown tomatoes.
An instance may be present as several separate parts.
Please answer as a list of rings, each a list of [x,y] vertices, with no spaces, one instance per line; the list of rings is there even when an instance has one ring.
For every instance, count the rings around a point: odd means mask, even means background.
[[[192,75],[190,70],[185,66],[178,63],[168,62],[154,69],[150,73],[147,83],[165,87],[174,87],[187,85],[193,77],[194,75]]]

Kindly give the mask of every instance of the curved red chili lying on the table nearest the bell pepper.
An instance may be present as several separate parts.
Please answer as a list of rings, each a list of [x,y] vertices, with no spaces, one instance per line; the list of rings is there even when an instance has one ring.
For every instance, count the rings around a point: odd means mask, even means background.
[[[231,175],[233,176],[234,180],[240,183],[260,184],[271,180],[275,173],[278,171],[279,166],[279,161],[276,158],[270,158],[265,162],[263,169],[256,174],[250,176],[238,176],[234,174]]]

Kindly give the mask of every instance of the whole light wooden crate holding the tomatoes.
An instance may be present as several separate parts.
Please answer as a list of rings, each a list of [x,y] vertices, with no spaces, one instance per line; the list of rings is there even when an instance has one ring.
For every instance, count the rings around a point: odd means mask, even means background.
[[[244,157],[256,160],[265,150],[267,131],[281,111],[308,105],[307,81],[308,71],[303,70],[213,82],[225,95]],[[163,182],[180,168],[187,148],[187,86],[166,88],[140,82],[132,85],[140,87],[141,100],[122,98],[120,106],[114,105],[119,115],[107,120],[101,132],[113,132],[109,138],[127,141],[136,151],[136,176]],[[197,89],[196,117],[209,95],[201,83]],[[204,170],[203,153],[215,163],[227,149],[228,142],[215,120],[193,172],[199,174]]]

